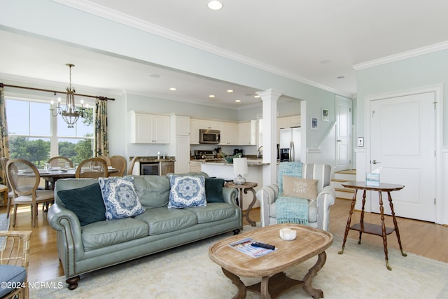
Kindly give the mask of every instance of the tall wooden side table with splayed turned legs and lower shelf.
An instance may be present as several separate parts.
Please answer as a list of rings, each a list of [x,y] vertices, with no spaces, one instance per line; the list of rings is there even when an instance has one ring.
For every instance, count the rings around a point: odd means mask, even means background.
[[[342,243],[342,249],[338,253],[339,254],[344,253],[344,246],[345,246],[345,242],[347,239],[347,235],[349,235],[349,230],[358,230],[359,231],[358,244],[361,244],[361,235],[363,234],[363,232],[365,232],[367,234],[371,234],[371,235],[378,235],[383,238],[384,255],[386,256],[387,270],[392,270],[392,268],[389,266],[389,260],[388,260],[388,255],[387,255],[387,235],[391,234],[395,230],[395,233],[396,233],[397,239],[398,239],[398,245],[400,245],[401,254],[402,254],[402,256],[407,256],[407,254],[403,252],[403,249],[401,246],[400,232],[398,231],[398,224],[397,224],[397,219],[395,218],[395,211],[393,211],[391,191],[401,190],[402,188],[405,188],[405,186],[394,185],[391,183],[379,183],[379,186],[367,186],[365,184],[365,181],[346,182],[346,183],[342,183],[342,186],[344,186],[345,188],[354,189],[355,194],[353,195],[353,200],[351,200],[350,213],[349,213],[349,218],[347,219],[347,225],[345,228],[344,242]],[[358,190],[363,190],[363,208],[361,209],[361,218],[360,218],[359,223],[356,223],[356,224],[353,224],[350,226],[351,215],[353,214],[353,208],[355,207],[356,193],[358,193]],[[372,223],[364,223],[365,192],[367,190],[378,191],[379,211],[381,213],[381,225],[372,224]],[[391,206],[391,211],[392,211],[393,228],[386,228],[386,225],[384,224],[384,207],[383,207],[383,198],[382,198],[381,192],[387,192],[389,205]]]

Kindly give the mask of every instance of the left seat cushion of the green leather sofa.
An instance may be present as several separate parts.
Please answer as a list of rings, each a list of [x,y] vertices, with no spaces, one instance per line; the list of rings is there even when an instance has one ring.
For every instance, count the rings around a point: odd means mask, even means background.
[[[81,227],[85,251],[147,237],[148,223],[134,218],[98,221]]]

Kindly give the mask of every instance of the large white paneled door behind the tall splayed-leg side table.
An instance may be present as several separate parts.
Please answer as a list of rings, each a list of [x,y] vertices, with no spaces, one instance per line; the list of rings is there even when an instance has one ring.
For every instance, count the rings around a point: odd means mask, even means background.
[[[370,171],[381,183],[404,185],[391,193],[397,216],[435,221],[435,94],[405,95],[370,102]],[[372,211],[379,212],[372,192]],[[391,214],[386,195],[384,212]]]

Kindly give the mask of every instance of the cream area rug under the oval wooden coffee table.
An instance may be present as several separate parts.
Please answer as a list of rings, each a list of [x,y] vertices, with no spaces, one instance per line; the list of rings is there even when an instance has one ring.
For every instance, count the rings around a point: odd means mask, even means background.
[[[245,227],[246,228],[246,227]],[[224,276],[221,267],[208,256],[211,244],[231,234],[181,246],[128,263],[85,274],[78,288],[69,291],[64,277],[48,281],[45,287],[31,288],[30,298],[232,298],[237,287]],[[448,298],[448,264],[389,249],[386,269],[382,247],[358,244],[348,239],[339,255],[342,238],[335,236],[327,249],[327,261],[313,280],[324,298]],[[236,253],[237,254],[237,253]],[[286,274],[302,279],[315,263],[311,258]],[[246,284],[257,279],[241,278]],[[59,288],[59,285],[63,287]],[[260,298],[248,292],[246,298]],[[280,298],[311,298],[295,288]]]

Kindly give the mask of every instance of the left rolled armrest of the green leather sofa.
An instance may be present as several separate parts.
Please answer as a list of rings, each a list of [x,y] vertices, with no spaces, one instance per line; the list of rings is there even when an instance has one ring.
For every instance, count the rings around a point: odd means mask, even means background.
[[[52,204],[47,215],[50,226],[57,230],[57,244],[59,258],[62,263],[66,260],[79,260],[84,256],[83,240],[81,239],[81,226],[78,216],[61,204]],[[59,248],[63,246],[64,248]],[[61,256],[63,254],[63,256]]]

